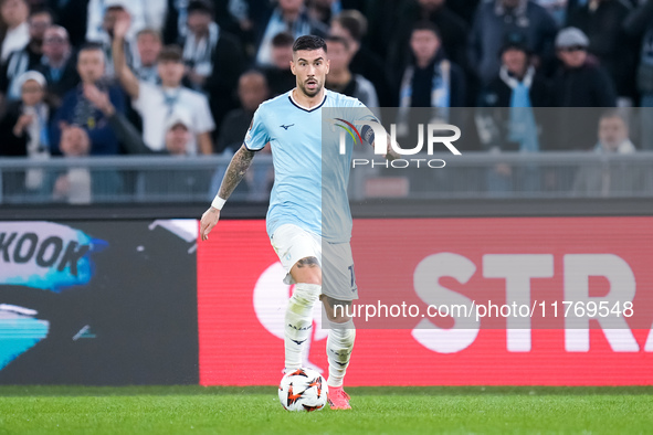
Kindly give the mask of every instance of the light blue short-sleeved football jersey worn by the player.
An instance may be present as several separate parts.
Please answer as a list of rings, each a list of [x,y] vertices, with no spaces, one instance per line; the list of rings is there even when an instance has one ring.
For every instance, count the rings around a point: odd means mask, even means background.
[[[323,103],[312,109],[299,106],[291,91],[261,104],[254,114],[244,145],[257,151],[270,142],[274,165],[268,235],[283,224],[295,224],[331,243],[351,238],[347,185],[354,140],[347,137],[340,153],[339,130],[323,124],[325,107],[356,108],[361,120],[376,119],[358,99],[328,89]],[[328,129],[324,137],[323,127]]]

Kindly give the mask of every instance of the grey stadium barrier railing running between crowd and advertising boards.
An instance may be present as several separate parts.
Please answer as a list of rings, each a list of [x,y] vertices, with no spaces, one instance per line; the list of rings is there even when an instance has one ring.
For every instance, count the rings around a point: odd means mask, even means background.
[[[394,166],[369,153],[354,158],[358,165],[355,160],[350,174],[352,201],[653,197],[653,151],[418,155]],[[370,163],[372,159],[375,165]],[[207,202],[218,191],[229,161],[225,156],[3,158],[0,203]],[[444,167],[430,168],[429,161],[435,161],[433,167],[443,161]],[[62,174],[72,180],[69,195],[55,193],[56,180]],[[272,157],[257,156],[232,201],[266,201],[272,179]]]

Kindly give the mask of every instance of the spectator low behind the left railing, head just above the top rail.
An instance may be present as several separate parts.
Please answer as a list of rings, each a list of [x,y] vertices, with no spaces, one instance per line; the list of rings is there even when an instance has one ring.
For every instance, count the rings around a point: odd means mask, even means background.
[[[63,157],[71,160],[87,157],[92,148],[87,131],[77,126],[65,127],[59,142]],[[69,204],[88,204],[103,197],[109,199],[118,193],[122,187],[120,176],[114,170],[91,171],[78,166],[71,166],[64,171],[53,171],[45,181],[45,191],[51,192],[52,199]]]

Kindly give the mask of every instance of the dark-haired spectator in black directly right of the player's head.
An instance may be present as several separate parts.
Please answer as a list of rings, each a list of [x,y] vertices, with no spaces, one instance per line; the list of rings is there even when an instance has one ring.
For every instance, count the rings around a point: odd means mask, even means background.
[[[379,104],[388,107],[396,103],[396,92],[390,88],[383,61],[373,52],[362,45],[362,39],[367,34],[367,19],[357,10],[344,10],[331,22],[329,33],[347,40],[354,57],[349,63],[349,70],[354,74],[360,74],[375,85]]]

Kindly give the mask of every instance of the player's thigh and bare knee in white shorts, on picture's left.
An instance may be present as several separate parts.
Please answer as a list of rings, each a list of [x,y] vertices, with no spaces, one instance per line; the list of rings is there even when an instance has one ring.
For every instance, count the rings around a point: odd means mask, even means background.
[[[271,243],[286,270],[284,283],[322,285],[319,236],[297,225],[284,224],[274,231]]]

